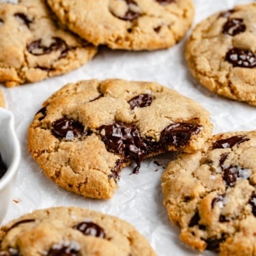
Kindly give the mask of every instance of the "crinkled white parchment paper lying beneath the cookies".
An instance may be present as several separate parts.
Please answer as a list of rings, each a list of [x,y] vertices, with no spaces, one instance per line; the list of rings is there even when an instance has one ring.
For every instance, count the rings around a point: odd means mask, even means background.
[[[214,12],[233,8],[246,0],[195,0],[193,27]],[[190,33],[190,32],[189,32]],[[69,74],[40,83],[3,89],[7,108],[14,113],[22,159],[16,180],[13,201],[3,223],[21,214],[57,205],[76,205],[123,218],[145,236],[156,253],[165,255],[199,255],[182,242],[179,230],[168,220],[162,206],[160,177],[163,169],[154,160],[167,166],[171,156],[145,160],[138,175],[130,175],[132,167],[122,171],[119,189],[109,201],[92,200],[74,195],[48,180],[27,152],[27,128],[42,102],[66,83],[83,79],[121,78],[156,81],[180,91],[200,102],[212,115],[214,133],[234,130],[255,130],[256,109],[247,104],[227,100],[210,93],[193,79],[184,59],[184,42],[164,51],[133,53],[102,48],[85,66]],[[182,107],[182,106],[181,106]],[[1,199],[0,199],[1,200]],[[214,255],[205,252],[203,255]]]

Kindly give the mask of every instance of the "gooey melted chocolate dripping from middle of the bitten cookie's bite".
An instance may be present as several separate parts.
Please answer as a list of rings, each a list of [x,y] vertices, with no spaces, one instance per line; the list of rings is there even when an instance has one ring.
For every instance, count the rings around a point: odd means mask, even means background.
[[[101,126],[100,134],[103,134],[102,140],[109,150],[135,160],[137,167],[134,168],[133,173],[138,173],[144,152],[143,141],[137,126],[117,122],[110,126]]]

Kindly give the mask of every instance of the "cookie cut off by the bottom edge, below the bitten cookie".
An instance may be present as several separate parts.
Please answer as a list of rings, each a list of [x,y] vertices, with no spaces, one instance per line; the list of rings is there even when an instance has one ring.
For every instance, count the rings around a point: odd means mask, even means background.
[[[25,214],[0,230],[0,255],[155,256],[126,221],[83,208]]]

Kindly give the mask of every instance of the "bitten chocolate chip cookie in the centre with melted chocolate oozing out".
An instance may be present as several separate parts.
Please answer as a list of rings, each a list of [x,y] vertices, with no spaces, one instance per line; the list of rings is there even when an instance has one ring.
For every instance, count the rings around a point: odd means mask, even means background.
[[[195,152],[212,134],[209,113],[177,91],[119,79],[69,84],[44,102],[28,149],[59,186],[110,198],[122,167],[171,150]]]

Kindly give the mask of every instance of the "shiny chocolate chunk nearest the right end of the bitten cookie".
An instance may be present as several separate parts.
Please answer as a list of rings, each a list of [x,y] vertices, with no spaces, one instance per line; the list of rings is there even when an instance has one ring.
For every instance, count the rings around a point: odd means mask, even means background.
[[[198,134],[201,130],[199,124],[178,123],[171,124],[162,130],[160,141],[162,144],[172,144],[175,147],[182,147],[188,143],[192,134]]]

